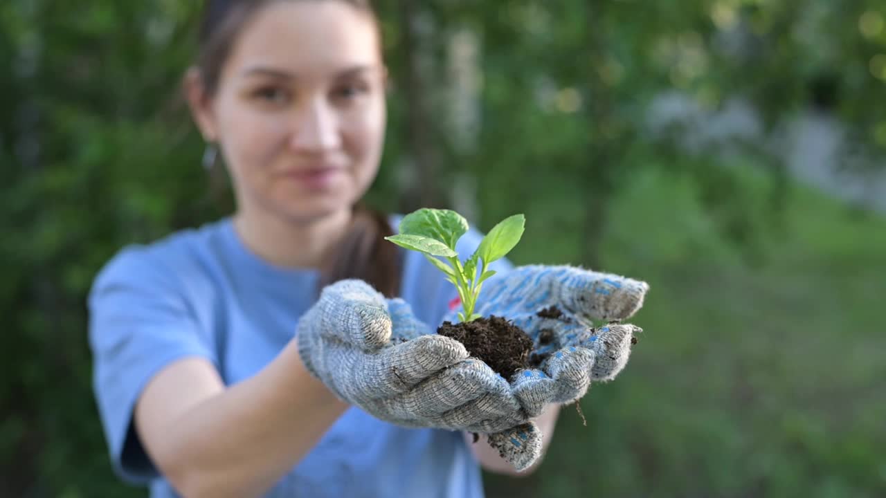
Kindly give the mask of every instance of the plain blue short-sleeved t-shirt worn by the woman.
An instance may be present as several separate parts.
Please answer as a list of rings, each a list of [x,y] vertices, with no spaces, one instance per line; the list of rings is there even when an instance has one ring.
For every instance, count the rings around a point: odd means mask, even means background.
[[[390,221],[396,231],[400,216]],[[463,259],[482,234],[456,247]],[[420,253],[402,251],[401,297],[436,328],[457,293]],[[492,268],[506,271],[508,261]],[[291,340],[315,303],[315,269],[279,268],[241,242],[229,218],[131,245],[98,274],[89,295],[94,389],[114,471],[177,496],[144,452],[132,424],[144,386],[185,356],[206,358],[226,385],[253,376]],[[223,437],[223,435],[220,435]],[[478,463],[461,432],[407,429],[352,407],[266,496],[483,496]]]

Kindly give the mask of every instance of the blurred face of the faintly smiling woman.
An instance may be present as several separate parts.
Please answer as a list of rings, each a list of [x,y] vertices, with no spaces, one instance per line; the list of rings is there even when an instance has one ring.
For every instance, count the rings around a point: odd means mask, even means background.
[[[375,22],[330,1],[268,4],[245,24],[206,112],[241,209],[310,221],[369,188],[385,134]]]

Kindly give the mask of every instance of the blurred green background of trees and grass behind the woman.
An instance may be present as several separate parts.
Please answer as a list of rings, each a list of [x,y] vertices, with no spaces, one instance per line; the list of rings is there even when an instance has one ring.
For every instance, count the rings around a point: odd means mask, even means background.
[[[128,497],[84,297],[229,213],[179,97],[198,3],[0,2],[0,496]],[[645,279],[627,369],[489,496],[886,496],[886,4],[387,0],[370,204],[525,213],[517,264]]]

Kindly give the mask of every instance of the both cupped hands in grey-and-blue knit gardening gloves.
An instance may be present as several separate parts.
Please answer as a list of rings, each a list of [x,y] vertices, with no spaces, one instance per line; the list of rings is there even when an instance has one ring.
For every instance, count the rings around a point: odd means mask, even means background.
[[[478,313],[511,320],[533,342],[531,368],[505,379],[460,342],[433,334],[404,301],[346,280],[325,288],[299,321],[299,354],[340,399],[392,424],[486,433],[520,471],[541,453],[532,417],[625,367],[641,329],[595,328],[593,320],[629,318],[648,289],[572,267],[526,266],[490,280]]]

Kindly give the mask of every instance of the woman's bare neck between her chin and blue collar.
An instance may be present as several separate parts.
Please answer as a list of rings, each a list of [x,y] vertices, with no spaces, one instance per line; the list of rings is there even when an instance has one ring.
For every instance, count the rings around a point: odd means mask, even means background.
[[[250,251],[284,268],[320,268],[325,254],[345,237],[350,209],[310,221],[238,211],[234,230]]]

